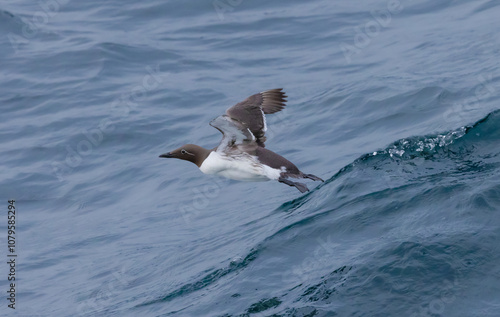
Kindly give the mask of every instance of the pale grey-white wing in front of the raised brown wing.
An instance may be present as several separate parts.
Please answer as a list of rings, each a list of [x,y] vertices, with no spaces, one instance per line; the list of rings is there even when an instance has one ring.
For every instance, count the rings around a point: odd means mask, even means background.
[[[217,152],[230,151],[231,149],[242,149],[245,151],[255,150],[258,145],[252,132],[239,121],[229,116],[222,115],[212,121],[210,125],[222,133],[222,141],[217,147]]]

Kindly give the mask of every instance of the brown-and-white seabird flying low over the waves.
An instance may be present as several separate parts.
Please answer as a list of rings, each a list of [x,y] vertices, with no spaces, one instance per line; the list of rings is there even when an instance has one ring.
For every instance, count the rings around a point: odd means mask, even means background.
[[[267,130],[265,114],[285,107],[287,96],[282,88],[267,90],[248,97],[226,110],[226,114],[210,122],[222,133],[222,141],[214,149],[186,144],[160,155],[196,164],[205,174],[216,174],[240,181],[277,180],[295,186],[301,193],[309,189],[288,178],[321,178],[302,173],[292,162],[265,148]]]

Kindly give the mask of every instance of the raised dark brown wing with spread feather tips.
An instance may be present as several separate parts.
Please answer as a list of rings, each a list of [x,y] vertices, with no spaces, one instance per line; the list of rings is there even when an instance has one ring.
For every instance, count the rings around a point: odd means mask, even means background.
[[[248,97],[226,110],[226,115],[236,119],[255,136],[259,146],[264,147],[266,137],[266,117],[282,110],[286,105],[286,95],[282,88],[267,90]]]

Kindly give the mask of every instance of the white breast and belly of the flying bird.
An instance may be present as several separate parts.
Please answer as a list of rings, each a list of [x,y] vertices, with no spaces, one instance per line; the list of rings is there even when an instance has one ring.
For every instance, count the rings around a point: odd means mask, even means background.
[[[278,179],[282,172],[279,169],[261,164],[257,158],[246,153],[237,156],[227,156],[216,151],[210,153],[205,161],[203,161],[200,170],[205,174],[215,174],[247,182]]]

